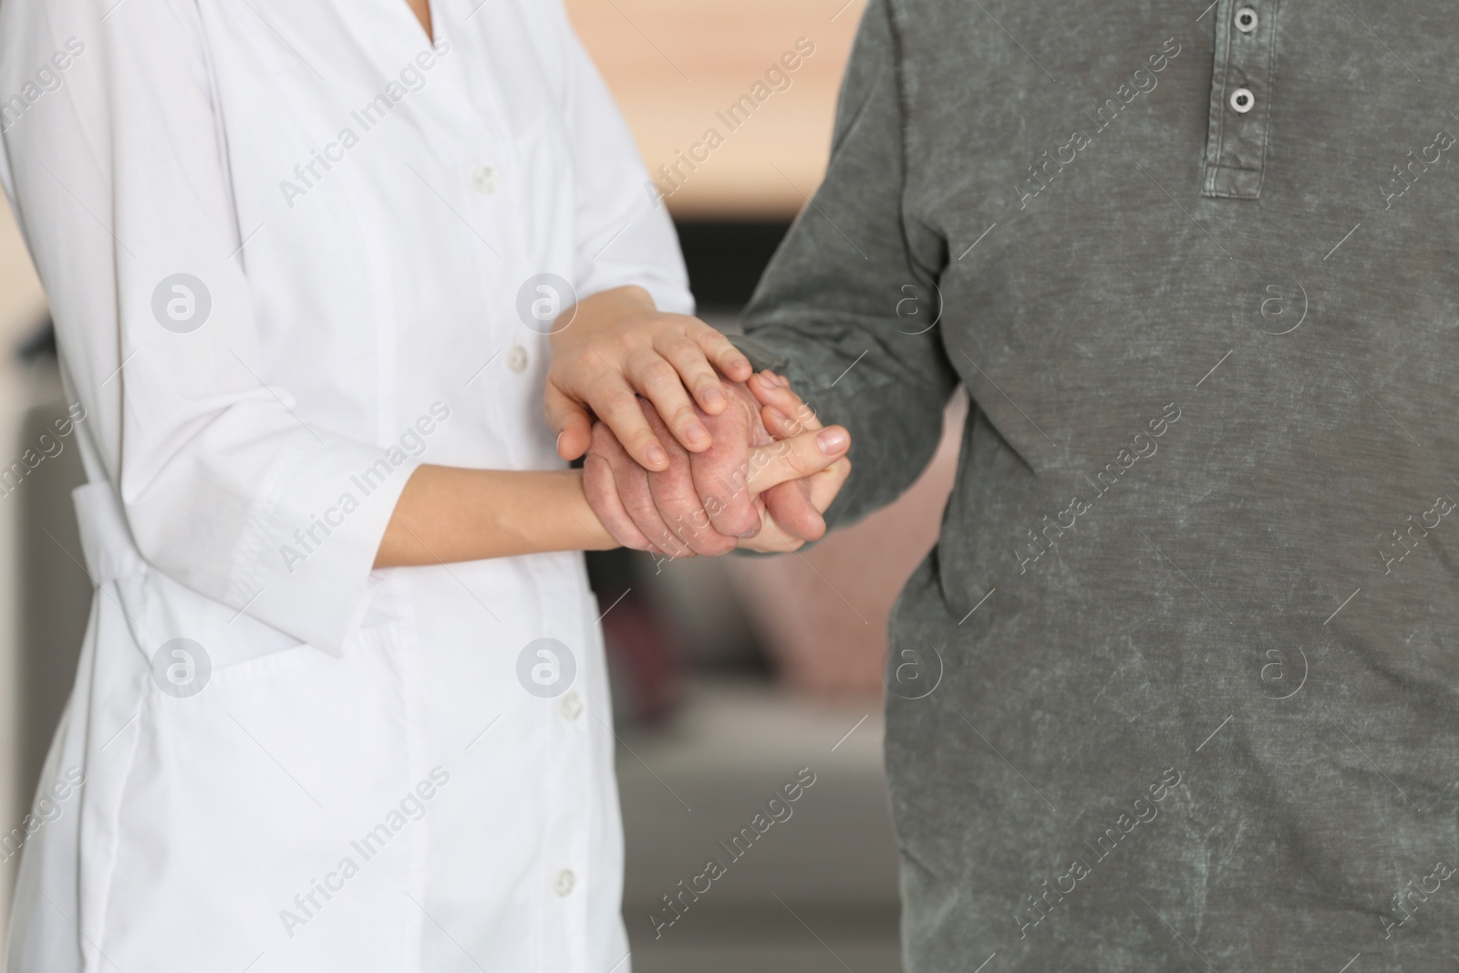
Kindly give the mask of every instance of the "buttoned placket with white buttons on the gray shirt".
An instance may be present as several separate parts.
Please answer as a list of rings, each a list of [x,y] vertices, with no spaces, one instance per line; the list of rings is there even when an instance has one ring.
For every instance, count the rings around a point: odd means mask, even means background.
[[[1256,200],[1266,175],[1278,0],[1220,0],[1202,195]]]

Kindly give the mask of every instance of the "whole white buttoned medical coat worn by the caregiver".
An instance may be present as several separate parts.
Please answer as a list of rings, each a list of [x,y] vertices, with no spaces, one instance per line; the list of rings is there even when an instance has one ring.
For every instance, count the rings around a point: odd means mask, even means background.
[[[692,301],[560,0],[433,13],[0,3],[98,585],[12,973],[629,967],[581,556],[371,565],[420,462],[562,465],[553,311]]]

